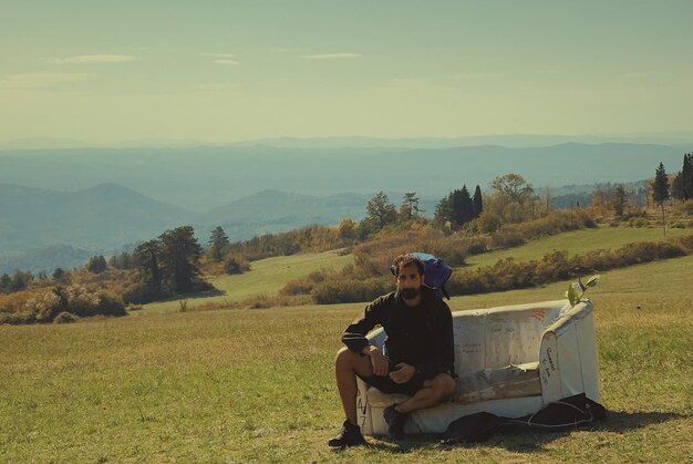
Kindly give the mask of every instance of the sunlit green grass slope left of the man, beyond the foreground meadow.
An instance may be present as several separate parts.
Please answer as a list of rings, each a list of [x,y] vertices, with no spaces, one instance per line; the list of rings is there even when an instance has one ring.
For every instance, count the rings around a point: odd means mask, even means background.
[[[267,258],[250,262],[250,271],[236,276],[217,276],[209,282],[221,292],[194,293],[186,299],[188,310],[205,305],[224,305],[241,301],[257,295],[276,295],[287,281],[304,277],[319,269],[341,269],[353,262],[351,255],[340,256],[338,251],[301,254]],[[145,305],[144,312],[172,312],[180,308],[178,300]],[[142,313],[142,312],[137,312]]]

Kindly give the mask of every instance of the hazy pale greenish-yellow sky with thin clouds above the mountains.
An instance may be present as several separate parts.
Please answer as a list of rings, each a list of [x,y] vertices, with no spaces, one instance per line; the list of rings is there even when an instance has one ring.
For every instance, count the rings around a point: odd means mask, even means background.
[[[693,1],[39,1],[0,142],[693,130]]]

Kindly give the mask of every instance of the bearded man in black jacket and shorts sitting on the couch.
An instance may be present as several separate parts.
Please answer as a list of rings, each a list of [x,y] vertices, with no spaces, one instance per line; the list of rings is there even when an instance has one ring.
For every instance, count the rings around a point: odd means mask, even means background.
[[[453,320],[439,296],[423,286],[424,265],[399,256],[393,264],[396,291],[366,306],[363,318],[344,330],[346,346],[337,353],[337,385],[344,425],[328,444],[346,447],[364,444],[356,424],[356,375],[384,393],[405,393],[410,399],[385,409],[387,434],[404,435],[412,411],[435,406],[455,392]],[[387,333],[385,353],[365,338],[376,324]]]

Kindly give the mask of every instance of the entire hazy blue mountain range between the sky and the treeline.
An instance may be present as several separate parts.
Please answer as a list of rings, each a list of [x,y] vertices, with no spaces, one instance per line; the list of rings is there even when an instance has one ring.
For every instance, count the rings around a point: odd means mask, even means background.
[[[537,189],[551,186],[554,197],[589,192],[599,183],[652,177],[660,162],[674,173],[686,152],[632,143],[0,151],[0,271],[50,271],[37,261],[50,261],[46,247],[69,245],[77,250],[75,261],[84,252],[107,254],[183,224],[193,225],[205,243],[218,225],[235,240],[338,224],[346,216],[360,219],[379,190],[397,205],[405,192],[416,192],[432,215],[451,190],[464,184],[470,192],[476,185],[487,190],[494,177],[510,172]]]

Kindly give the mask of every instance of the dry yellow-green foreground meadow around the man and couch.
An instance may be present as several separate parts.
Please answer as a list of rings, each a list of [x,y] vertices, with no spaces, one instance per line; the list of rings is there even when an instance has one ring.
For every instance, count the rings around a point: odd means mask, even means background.
[[[449,450],[430,436],[327,448],[342,422],[334,352],[363,305],[2,326],[0,462],[690,462],[692,275],[684,257],[590,289],[607,422]],[[550,300],[567,285],[451,307]]]

